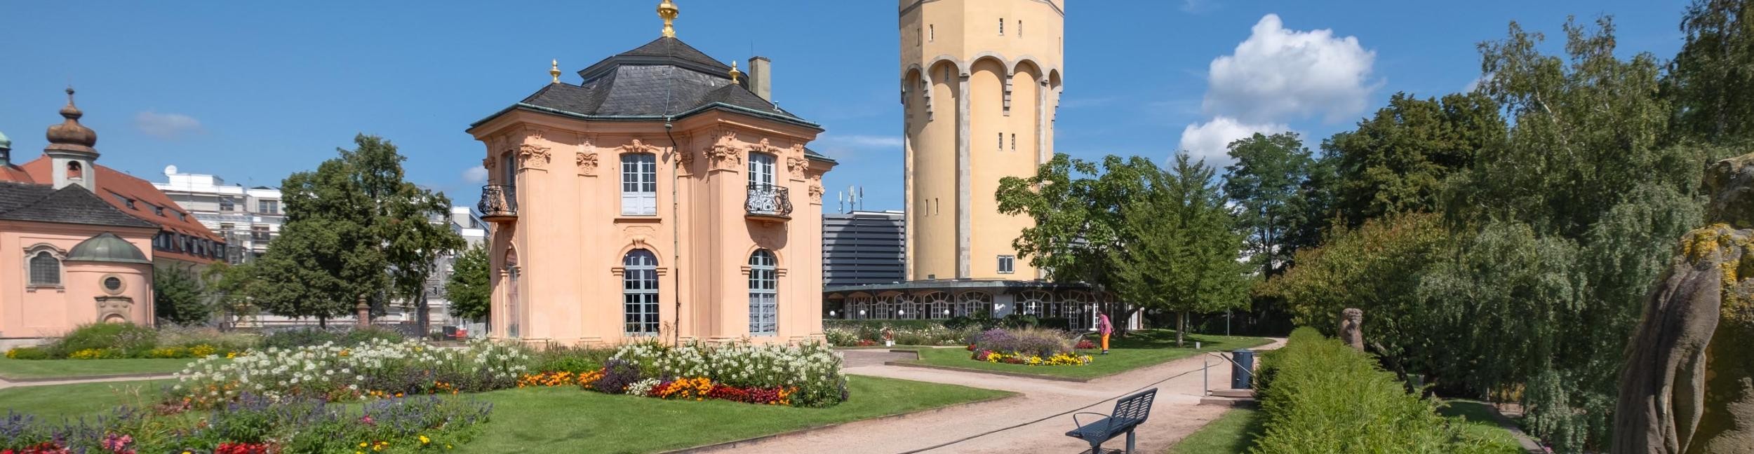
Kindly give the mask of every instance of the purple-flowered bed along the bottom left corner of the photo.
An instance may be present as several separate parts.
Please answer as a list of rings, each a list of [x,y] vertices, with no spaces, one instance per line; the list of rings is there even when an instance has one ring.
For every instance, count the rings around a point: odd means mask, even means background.
[[[423,452],[470,440],[493,407],[460,398],[402,398],[360,408],[323,400],[277,401],[254,394],[205,417],[137,412],[67,422],[9,414],[0,419],[5,454],[144,452]]]

